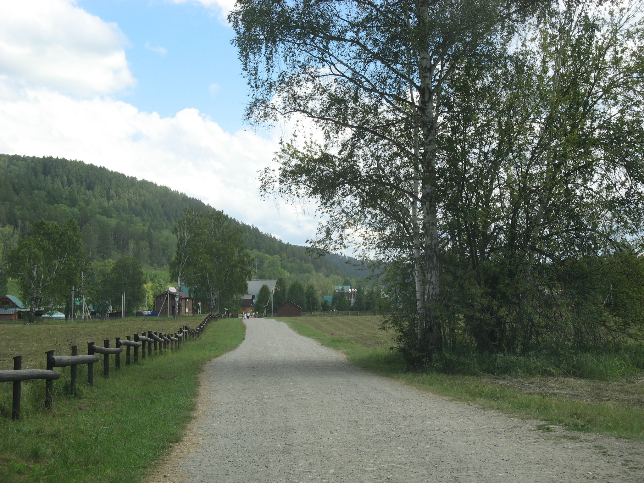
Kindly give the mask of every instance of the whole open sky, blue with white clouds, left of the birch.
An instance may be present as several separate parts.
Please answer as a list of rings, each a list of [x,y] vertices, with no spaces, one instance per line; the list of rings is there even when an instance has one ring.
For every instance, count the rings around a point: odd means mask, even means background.
[[[231,2],[0,0],[0,153],[105,166],[305,243],[311,205],[258,191],[290,128],[245,129]]]

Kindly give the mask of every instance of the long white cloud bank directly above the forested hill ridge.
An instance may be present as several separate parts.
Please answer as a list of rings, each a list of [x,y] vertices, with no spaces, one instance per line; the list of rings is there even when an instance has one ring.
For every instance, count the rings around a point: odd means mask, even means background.
[[[272,164],[277,140],[228,133],[196,109],[161,117],[113,99],[16,92],[0,81],[0,132],[0,153],[61,156],[144,178],[292,243],[315,230],[301,210],[260,199],[257,173]]]

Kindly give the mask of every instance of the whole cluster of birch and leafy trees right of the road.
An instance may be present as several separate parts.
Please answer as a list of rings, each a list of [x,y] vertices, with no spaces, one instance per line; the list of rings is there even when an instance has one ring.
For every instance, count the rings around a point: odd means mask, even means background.
[[[320,251],[375,257],[410,363],[632,336],[611,304],[642,300],[619,279],[641,267],[643,13],[237,3],[249,118],[302,121],[263,188],[317,202]]]

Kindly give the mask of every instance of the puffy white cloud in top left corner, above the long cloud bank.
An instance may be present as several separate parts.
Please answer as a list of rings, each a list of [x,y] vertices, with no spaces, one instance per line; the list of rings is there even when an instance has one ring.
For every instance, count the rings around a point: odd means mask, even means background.
[[[0,75],[74,95],[133,86],[116,24],[73,1],[0,0]]]

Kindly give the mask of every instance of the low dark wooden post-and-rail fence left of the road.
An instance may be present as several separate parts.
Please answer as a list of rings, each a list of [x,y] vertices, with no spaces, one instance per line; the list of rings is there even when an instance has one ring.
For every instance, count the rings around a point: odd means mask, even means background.
[[[207,325],[221,317],[220,314],[210,314],[205,317],[204,321],[196,328],[190,328],[184,325],[174,334],[159,334],[151,330],[141,334],[128,336],[126,339],[116,337],[114,347],[109,346],[109,339],[103,341],[103,345],[95,345],[94,342],[88,342],[87,355],[78,355],[78,346],[71,347],[71,355],[55,355],[54,350],[48,350],[46,354],[46,369],[23,369],[23,357],[16,355],[14,357],[14,370],[0,370],[0,383],[13,382],[14,390],[12,393],[12,419],[20,419],[20,399],[21,399],[21,382],[32,379],[44,379],[45,395],[44,406],[51,410],[53,406],[53,381],[61,378],[61,373],[55,371],[57,367],[71,366],[71,384],[70,392],[72,395],[77,394],[77,368],[79,365],[87,365],[87,384],[94,385],[94,364],[100,362],[101,354],[103,356],[103,377],[109,377],[109,356],[114,356],[114,366],[116,370],[121,367],[120,355],[125,348],[125,363],[130,366],[137,363],[139,359],[153,357],[153,354],[162,355],[164,351],[178,350],[185,342],[199,337]]]

